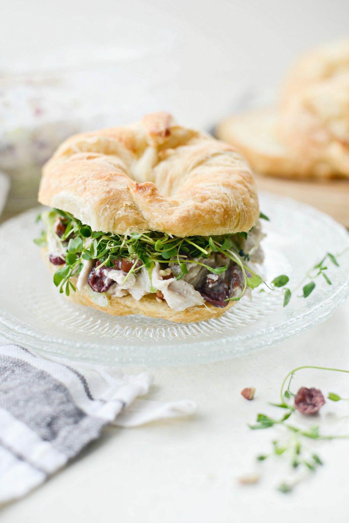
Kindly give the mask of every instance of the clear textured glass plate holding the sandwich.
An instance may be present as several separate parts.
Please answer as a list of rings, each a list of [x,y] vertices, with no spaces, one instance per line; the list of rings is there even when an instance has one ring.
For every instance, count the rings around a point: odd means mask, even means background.
[[[265,193],[260,207],[271,220],[263,221],[265,281],[287,274],[294,289],[326,253],[342,253],[339,268],[329,262],[332,285],[318,277],[307,299],[298,297],[300,285],[285,308],[282,289],[263,285],[266,292],[254,290],[252,301],[244,298],[220,318],[192,324],[110,316],[59,294],[32,241],[40,225],[31,210],[0,227],[0,332],[55,356],[144,367],[228,359],[301,334],[349,294],[349,235],[329,216],[294,200]]]

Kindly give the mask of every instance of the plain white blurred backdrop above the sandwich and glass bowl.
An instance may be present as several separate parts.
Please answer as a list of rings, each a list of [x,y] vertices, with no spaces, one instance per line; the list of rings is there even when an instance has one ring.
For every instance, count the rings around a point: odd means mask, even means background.
[[[0,74],[131,59],[161,86],[144,110],[209,127],[235,88],[274,91],[300,52],[347,36],[348,18],[346,0],[2,0]]]

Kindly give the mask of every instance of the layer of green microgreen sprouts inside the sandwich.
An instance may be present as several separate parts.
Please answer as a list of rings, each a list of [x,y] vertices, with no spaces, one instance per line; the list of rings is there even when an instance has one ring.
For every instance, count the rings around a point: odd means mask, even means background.
[[[79,274],[83,268],[84,260],[98,260],[99,269],[102,267],[114,267],[112,261],[125,258],[132,261],[132,267],[125,276],[123,283],[127,281],[130,274],[136,271],[138,261],[141,267],[149,270],[155,263],[166,264],[177,263],[181,269],[176,279],[183,278],[191,265],[205,267],[212,274],[222,274],[228,269],[227,263],[219,267],[211,267],[205,260],[211,253],[221,253],[223,257],[229,258],[238,264],[242,270],[244,285],[238,297],[231,300],[240,300],[247,287],[254,289],[262,283],[262,278],[249,266],[245,260],[249,259],[249,253],[243,252],[243,242],[247,232],[243,234],[223,234],[220,236],[188,236],[180,238],[162,232],[138,232],[127,234],[104,233],[92,231],[89,225],[83,224],[72,214],[60,209],[41,213],[38,217],[46,226],[41,236],[35,240],[40,247],[47,246],[47,237],[50,235],[65,254],[65,266],[55,272],[54,284],[59,287],[60,292],[70,293],[70,288],[75,290],[70,278]],[[64,233],[58,236],[55,223],[60,218],[64,225]],[[243,252],[243,261],[240,252]],[[224,258],[222,258],[224,259]]]

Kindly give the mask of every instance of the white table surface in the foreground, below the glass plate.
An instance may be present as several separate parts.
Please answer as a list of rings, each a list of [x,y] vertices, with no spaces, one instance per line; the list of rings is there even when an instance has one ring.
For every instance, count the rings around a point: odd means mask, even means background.
[[[0,519],[6,523],[347,521],[347,440],[316,446],[324,466],[285,495],[275,486],[287,477],[286,462],[272,466],[255,462],[278,437],[277,429],[251,431],[246,423],[254,422],[258,412],[280,414],[267,402],[278,400],[280,384],[292,368],[307,364],[349,368],[348,317],[349,301],[326,322],[269,349],[211,365],[153,369],[155,384],[147,397],[193,399],[199,404],[195,417],[135,429],[105,429],[103,437],[69,467],[5,507]],[[295,388],[316,386],[324,394],[349,396],[346,374],[302,372]],[[251,402],[240,395],[249,385],[257,391]],[[346,414],[348,408],[328,401],[323,412]],[[258,484],[238,483],[237,477],[255,471],[262,474]]]

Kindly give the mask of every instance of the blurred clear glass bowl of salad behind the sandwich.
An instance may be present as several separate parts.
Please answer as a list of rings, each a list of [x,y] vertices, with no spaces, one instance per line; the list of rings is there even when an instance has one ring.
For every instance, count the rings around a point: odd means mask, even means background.
[[[176,64],[151,64],[164,61],[165,52],[166,46],[137,50],[87,69],[0,78],[0,170],[11,181],[6,210],[37,203],[41,167],[65,138],[163,109],[162,94],[175,86]]]

